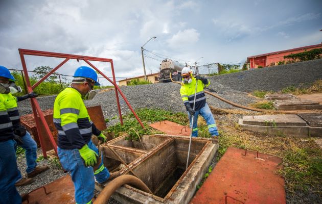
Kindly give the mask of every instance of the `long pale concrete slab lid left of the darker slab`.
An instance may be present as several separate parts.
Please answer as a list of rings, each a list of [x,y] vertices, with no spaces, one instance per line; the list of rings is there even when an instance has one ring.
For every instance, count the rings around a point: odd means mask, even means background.
[[[243,124],[263,126],[306,126],[307,123],[297,115],[254,115],[244,116]]]

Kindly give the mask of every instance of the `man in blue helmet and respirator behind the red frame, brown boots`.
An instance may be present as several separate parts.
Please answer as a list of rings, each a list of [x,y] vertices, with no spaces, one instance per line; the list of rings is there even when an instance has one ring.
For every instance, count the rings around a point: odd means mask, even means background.
[[[0,66],[0,71],[3,86],[6,87],[6,91],[2,93],[5,101],[4,105],[9,114],[13,131],[15,134],[15,140],[17,145],[25,149],[25,155],[27,160],[27,176],[28,178],[22,177],[20,171],[18,170],[18,176],[16,179],[15,186],[24,186],[33,182],[32,177],[37,174],[49,169],[48,166],[37,166],[37,144],[35,140],[31,137],[30,133],[26,130],[26,127],[20,123],[20,114],[18,111],[17,102],[25,100],[27,98],[36,97],[37,94],[31,92],[23,96],[13,96],[12,94],[21,92],[21,88],[15,84],[15,79],[11,75],[10,71],[3,66]]]

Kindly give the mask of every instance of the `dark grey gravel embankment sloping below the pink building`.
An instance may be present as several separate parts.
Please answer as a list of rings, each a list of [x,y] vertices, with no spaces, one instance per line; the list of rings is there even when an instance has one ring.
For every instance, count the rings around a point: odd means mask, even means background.
[[[211,79],[240,91],[280,91],[290,86],[306,87],[322,79],[322,59],[216,75]]]

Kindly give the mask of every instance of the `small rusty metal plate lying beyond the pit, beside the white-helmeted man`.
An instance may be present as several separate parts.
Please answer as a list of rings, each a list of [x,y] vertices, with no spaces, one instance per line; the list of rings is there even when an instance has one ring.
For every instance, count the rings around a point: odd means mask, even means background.
[[[158,131],[162,131],[168,135],[181,135],[181,136],[190,136],[190,128],[187,126],[180,125],[169,120],[164,120],[160,122],[155,122],[149,124],[150,127]]]

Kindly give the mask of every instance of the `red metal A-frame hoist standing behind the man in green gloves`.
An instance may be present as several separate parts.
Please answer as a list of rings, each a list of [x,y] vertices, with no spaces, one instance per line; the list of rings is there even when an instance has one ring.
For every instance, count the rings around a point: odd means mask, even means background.
[[[114,85],[121,124],[123,125],[123,119],[122,119],[122,112],[121,112],[120,101],[119,101],[119,94],[118,93],[121,94],[121,96],[123,97],[125,103],[130,108],[130,110],[132,111],[133,115],[135,116],[136,120],[139,121],[139,123],[143,127],[143,129],[145,129],[145,127],[144,127],[143,123],[141,122],[140,118],[137,117],[135,111],[131,107],[131,105],[128,102],[128,100],[126,99],[125,95],[122,93],[121,89],[116,84],[116,79],[115,79],[115,74],[114,74],[114,67],[113,67],[113,60],[112,59],[97,58],[97,57],[88,57],[88,56],[81,56],[81,55],[70,55],[70,54],[62,54],[62,53],[51,53],[51,52],[43,52],[43,51],[31,50],[31,49],[18,49],[18,50],[19,50],[19,55],[20,55],[20,59],[21,59],[21,65],[22,65],[22,68],[24,69],[24,73],[25,73],[25,79],[26,79],[26,83],[27,83],[28,93],[32,92],[33,89],[35,89],[41,82],[43,82],[45,79],[47,79],[52,73],[54,73],[58,68],[60,68],[63,64],[65,64],[68,60],[70,60],[70,59],[75,59],[77,61],[84,60],[89,66],[93,67],[105,79],[107,79],[111,84]],[[33,86],[31,86],[30,81],[29,81],[29,75],[28,75],[28,70],[27,70],[27,66],[26,66],[25,56],[24,55],[43,56],[43,57],[55,57],[55,58],[65,58],[65,60],[62,61],[53,70],[51,70],[48,74],[46,74],[43,78],[41,78],[36,84],[34,84]],[[111,63],[111,70],[112,70],[112,75],[113,75],[113,81],[111,81],[108,77],[106,77],[106,75],[103,74],[103,72],[101,72],[98,68],[96,68],[89,61],[109,62],[109,63]],[[42,113],[42,111],[40,109],[40,106],[39,106],[38,101],[37,101],[36,98],[31,98],[31,105],[32,105],[32,110],[33,110],[33,114],[34,114],[35,121],[36,121],[37,132],[40,133],[40,125],[43,125],[45,131],[49,135],[50,141],[52,142],[52,144],[54,146],[54,149],[55,149],[55,152],[57,154],[57,144],[56,144],[56,142],[54,140],[54,137],[53,137],[53,135],[52,135],[52,133],[51,133],[51,131],[49,129],[49,125],[45,121],[45,118],[43,116],[43,113]],[[38,115],[40,117],[40,121],[37,119],[38,118],[37,117],[37,113],[38,113]],[[40,141],[41,148],[43,148],[44,141],[43,141],[43,139],[41,138],[40,135],[39,135],[39,141]],[[47,152],[44,149],[42,149],[42,154],[43,154],[43,157],[47,158]]]

